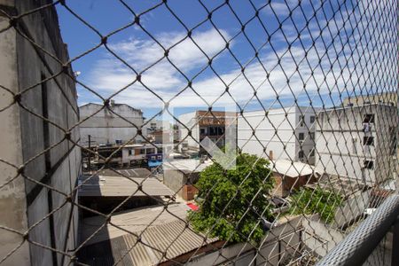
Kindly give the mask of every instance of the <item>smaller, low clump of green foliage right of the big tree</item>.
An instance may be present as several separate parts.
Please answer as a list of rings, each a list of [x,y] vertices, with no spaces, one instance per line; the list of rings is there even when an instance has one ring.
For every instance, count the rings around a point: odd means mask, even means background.
[[[293,214],[318,214],[325,223],[333,221],[335,212],[343,201],[339,193],[322,190],[318,187],[315,190],[301,189],[293,194],[292,199]]]

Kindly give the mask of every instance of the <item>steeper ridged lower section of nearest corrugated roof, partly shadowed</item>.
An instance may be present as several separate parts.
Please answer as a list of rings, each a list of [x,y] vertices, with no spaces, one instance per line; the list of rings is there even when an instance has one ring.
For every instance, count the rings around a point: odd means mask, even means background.
[[[126,254],[123,265],[155,265],[217,241],[217,238],[206,239],[191,227],[187,228],[186,223],[176,217],[171,222],[144,229],[134,231],[136,235],[143,232],[140,242],[134,234],[124,231],[116,238],[83,246],[79,261],[90,265],[113,265]]]

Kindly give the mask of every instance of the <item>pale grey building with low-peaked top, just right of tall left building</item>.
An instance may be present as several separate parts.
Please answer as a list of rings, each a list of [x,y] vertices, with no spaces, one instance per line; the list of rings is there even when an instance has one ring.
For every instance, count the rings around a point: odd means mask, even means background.
[[[137,129],[142,127],[144,121],[141,110],[111,101],[109,107],[93,103],[80,106],[79,112],[82,145],[143,141],[143,137],[137,136]]]

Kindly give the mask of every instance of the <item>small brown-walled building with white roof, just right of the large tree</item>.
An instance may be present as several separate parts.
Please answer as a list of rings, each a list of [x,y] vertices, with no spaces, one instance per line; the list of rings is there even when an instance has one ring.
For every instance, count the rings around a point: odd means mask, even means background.
[[[322,176],[315,167],[300,161],[273,160],[270,168],[275,180],[271,195],[278,197],[286,197],[305,185],[317,182]]]

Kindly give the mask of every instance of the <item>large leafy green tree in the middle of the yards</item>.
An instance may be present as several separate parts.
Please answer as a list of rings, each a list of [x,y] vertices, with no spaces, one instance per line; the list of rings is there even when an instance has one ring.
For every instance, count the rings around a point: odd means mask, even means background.
[[[235,168],[226,170],[218,163],[205,168],[196,186],[203,199],[200,210],[189,214],[196,231],[231,243],[262,239],[260,215],[272,218],[265,197],[273,187],[268,160],[241,153]]]

